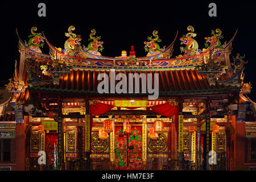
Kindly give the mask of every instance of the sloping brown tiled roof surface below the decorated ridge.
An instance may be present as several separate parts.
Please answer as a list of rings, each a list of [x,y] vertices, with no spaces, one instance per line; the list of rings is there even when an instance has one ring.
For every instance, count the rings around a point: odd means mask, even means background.
[[[34,90],[48,90],[53,92],[68,92],[68,93],[87,93],[87,94],[98,94],[97,86],[100,81],[97,77],[100,73],[106,73],[108,76],[110,71],[71,71],[64,76],[60,77],[59,85],[54,85],[52,82],[45,83],[43,85],[29,86],[29,89]],[[237,86],[225,86],[225,85],[210,85],[207,77],[197,73],[196,69],[179,69],[174,71],[114,71],[114,75],[118,73],[125,73],[127,79],[129,73],[159,73],[159,95],[170,96],[170,95],[182,95],[184,93],[199,94],[202,92],[222,92],[225,90],[236,90]],[[139,82],[139,90],[141,95],[142,78]],[[154,81],[154,80],[153,80]],[[109,76],[110,83],[110,76]],[[115,85],[117,81],[115,81]],[[134,84],[138,84],[134,82]],[[134,87],[133,87],[134,88]],[[110,88],[109,88],[110,89]],[[127,90],[129,90],[129,84],[127,84]],[[109,94],[110,90],[109,90]],[[105,95],[105,94],[102,94]]]

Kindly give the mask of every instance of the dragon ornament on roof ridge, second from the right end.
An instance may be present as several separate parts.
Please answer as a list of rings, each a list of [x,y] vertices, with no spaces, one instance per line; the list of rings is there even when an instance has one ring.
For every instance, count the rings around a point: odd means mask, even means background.
[[[201,49],[198,49],[198,43],[196,42],[195,39],[193,39],[196,36],[196,34],[194,33],[195,29],[192,26],[188,26],[187,30],[190,32],[188,32],[187,35],[183,35],[180,38],[180,44],[185,44],[186,47],[180,47],[180,51],[184,52],[184,57],[194,56],[198,55],[199,53],[202,53]]]

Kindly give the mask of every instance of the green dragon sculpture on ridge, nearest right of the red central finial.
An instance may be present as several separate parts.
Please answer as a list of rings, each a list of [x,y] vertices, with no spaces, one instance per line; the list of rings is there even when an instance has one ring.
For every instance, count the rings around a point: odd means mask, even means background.
[[[154,55],[159,55],[160,53],[163,53],[162,50],[160,49],[160,46],[158,43],[156,42],[161,42],[162,40],[159,39],[158,31],[154,30],[152,32],[153,36],[155,37],[154,39],[151,37],[147,37],[148,40],[150,40],[150,42],[144,42],[145,46],[144,49],[147,53],[147,57],[149,56],[154,56]]]

